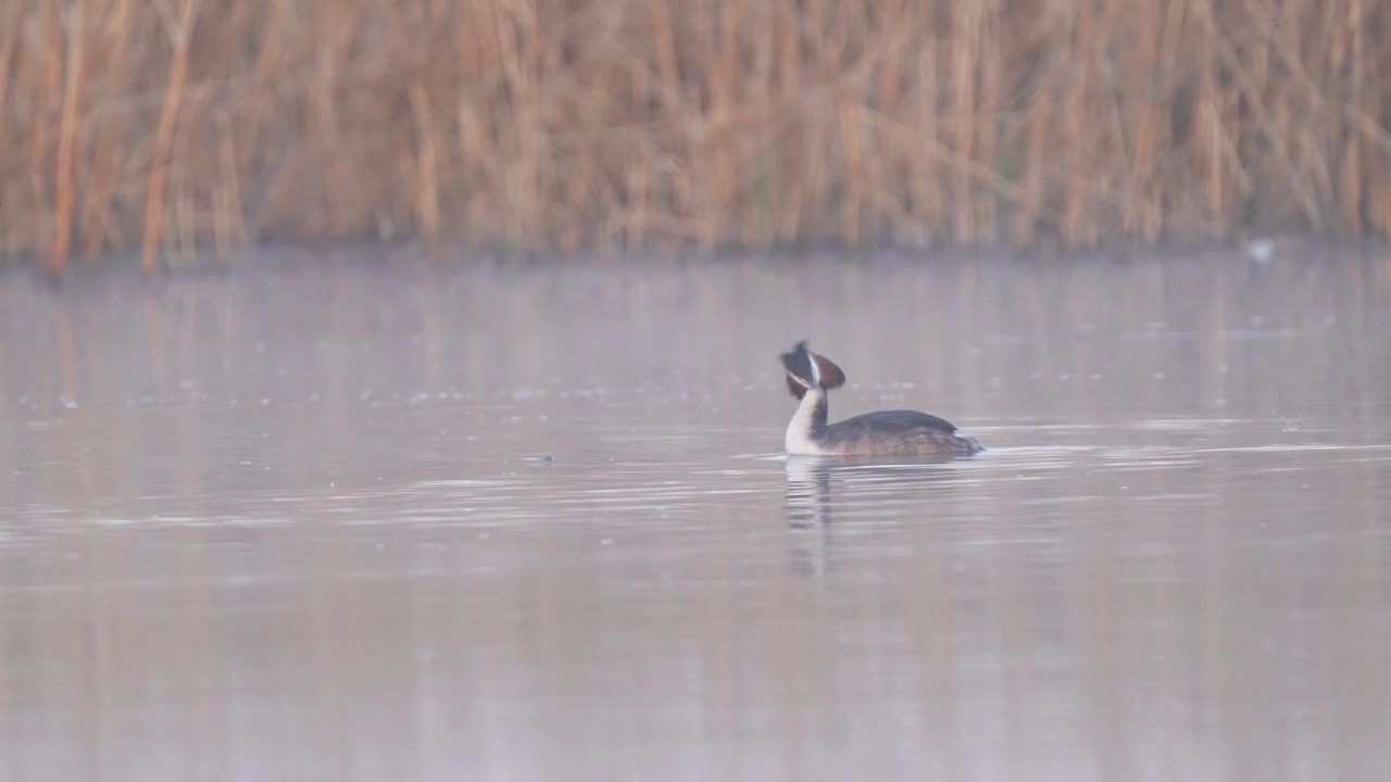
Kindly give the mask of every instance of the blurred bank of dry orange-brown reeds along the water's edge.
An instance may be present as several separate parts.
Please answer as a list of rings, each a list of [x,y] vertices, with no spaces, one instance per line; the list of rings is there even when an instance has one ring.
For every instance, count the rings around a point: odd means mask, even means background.
[[[0,253],[1387,235],[1377,0],[11,0]]]

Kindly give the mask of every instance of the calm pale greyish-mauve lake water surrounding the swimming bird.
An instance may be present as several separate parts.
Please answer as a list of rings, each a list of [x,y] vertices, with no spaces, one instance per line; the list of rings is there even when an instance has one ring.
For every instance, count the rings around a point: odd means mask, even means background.
[[[1391,253],[0,273],[0,779],[1391,778]],[[832,419],[989,451],[786,459]]]

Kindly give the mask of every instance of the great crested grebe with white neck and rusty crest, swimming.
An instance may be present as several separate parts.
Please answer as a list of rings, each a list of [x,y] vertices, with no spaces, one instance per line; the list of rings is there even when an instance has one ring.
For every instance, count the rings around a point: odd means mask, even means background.
[[[828,424],[828,391],[840,388],[846,373],[803,340],[782,355],[787,390],[801,399],[787,424],[787,454],[857,456],[892,454],[965,455],[981,445],[957,434],[950,423],[917,410],[878,410]]]

